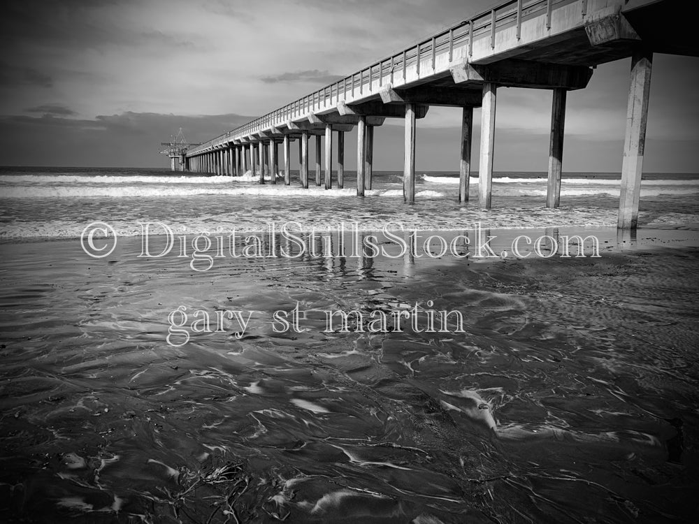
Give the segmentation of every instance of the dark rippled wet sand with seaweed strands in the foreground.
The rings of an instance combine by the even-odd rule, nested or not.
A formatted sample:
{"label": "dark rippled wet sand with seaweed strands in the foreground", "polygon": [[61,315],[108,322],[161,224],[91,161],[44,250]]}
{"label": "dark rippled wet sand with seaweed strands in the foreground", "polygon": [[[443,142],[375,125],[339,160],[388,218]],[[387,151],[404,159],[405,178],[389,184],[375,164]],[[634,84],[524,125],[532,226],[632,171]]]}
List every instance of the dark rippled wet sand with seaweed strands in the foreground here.
{"label": "dark rippled wet sand with seaweed strands in the foreground", "polygon": [[[103,260],[78,240],[2,244],[0,516],[690,521],[697,231],[491,231],[495,252],[566,233],[598,235],[600,257],[225,257],[198,273],[136,258],[138,238]],[[326,311],[428,300],[466,333],[326,330]],[[250,323],[173,347],[179,305]],[[296,305],[301,333],[275,332]]]}

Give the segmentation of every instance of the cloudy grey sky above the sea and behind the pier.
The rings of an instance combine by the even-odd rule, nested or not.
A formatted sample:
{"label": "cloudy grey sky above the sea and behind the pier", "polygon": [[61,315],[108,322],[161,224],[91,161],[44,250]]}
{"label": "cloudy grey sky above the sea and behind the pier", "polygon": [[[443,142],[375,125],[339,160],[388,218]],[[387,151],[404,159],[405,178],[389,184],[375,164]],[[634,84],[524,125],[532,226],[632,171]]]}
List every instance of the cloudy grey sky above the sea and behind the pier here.
{"label": "cloudy grey sky above the sea and behind the pier", "polygon": [[[492,5],[6,0],[0,165],[166,167],[160,143],[180,127],[190,142],[209,140]],[[568,93],[564,171],[621,170],[629,68],[630,59],[602,64]],[[697,85],[698,58],[654,56],[644,171],[699,172]],[[495,170],[547,169],[551,103],[547,90],[498,89]],[[440,107],[418,120],[417,170],[458,170],[460,122],[459,108]],[[477,169],[480,109],[474,124]],[[402,170],[400,119],[376,129],[374,159],[377,170]]]}

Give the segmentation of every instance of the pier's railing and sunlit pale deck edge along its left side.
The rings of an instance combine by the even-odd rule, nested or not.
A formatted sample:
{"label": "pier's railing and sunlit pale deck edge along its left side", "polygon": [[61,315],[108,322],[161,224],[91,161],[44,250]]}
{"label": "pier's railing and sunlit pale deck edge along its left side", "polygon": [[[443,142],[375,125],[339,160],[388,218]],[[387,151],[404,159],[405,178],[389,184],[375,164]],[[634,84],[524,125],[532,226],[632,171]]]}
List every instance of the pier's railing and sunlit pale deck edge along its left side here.
{"label": "pier's railing and sunlit pale deck edge along its left side", "polygon": [[[417,41],[410,47],[375,61],[345,78],[326,85],[311,94],[301,97],[282,108],[239,126],[227,133],[212,138],[199,147],[194,147],[188,156],[212,150],[216,146],[245,136],[273,129],[277,126],[308,117],[316,112],[336,108],[340,102],[353,102],[378,96],[386,85],[399,87],[415,80],[424,79],[448,71],[449,64],[456,58],[471,59],[475,43],[480,49],[495,50],[498,31],[515,28],[517,40],[521,24],[535,17],[545,17],[546,29],[551,29],[552,13],[557,8],[579,4],[580,16],[584,18],[588,0],[509,0],[500,3],[485,13],[463,20],[452,27]],[[581,21],[582,22],[582,21]],[[483,45],[485,39],[485,46]]]}

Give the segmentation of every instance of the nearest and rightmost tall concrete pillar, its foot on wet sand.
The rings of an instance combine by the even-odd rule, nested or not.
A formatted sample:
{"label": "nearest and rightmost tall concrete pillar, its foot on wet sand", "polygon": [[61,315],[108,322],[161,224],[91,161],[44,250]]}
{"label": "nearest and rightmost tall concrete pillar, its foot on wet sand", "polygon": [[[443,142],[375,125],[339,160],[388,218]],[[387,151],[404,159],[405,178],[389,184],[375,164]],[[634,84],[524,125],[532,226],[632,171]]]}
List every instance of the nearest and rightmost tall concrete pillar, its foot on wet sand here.
{"label": "nearest and rightmost tall concrete pillar, its foot on wet sand", "polygon": [[626,108],[624,159],[621,162],[621,194],[617,220],[619,229],[635,229],[638,222],[652,66],[652,52],[641,49],[633,52]]}

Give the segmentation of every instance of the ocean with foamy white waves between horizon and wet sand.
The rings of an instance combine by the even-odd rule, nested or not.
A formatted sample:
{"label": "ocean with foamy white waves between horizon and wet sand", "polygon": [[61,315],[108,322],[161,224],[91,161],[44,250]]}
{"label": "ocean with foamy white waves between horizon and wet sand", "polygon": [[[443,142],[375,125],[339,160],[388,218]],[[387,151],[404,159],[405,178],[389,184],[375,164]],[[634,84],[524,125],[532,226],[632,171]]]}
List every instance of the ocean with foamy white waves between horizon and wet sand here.
{"label": "ocean with foamy white waves between horizon and wet sand", "polygon": [[[136,221],[144,220],[189,231],[212,226],[263,231],[271,221],[288,220],[320,228],[338,218],[359,221],[365,231],[380,229],[391,219],[421,230],[454,230],[476,221],[492,228],[607,227],[617,221],[619,177],[564,174],[561,208],[549,210],[545,173],[496,173],[493,210],[482,211],[477,177],[470,179],[470,202],[461,204],[456,173],[417,173],[416,202],[406,207],[398,172],[375,172],[373,189],[358,201],[352,198],[354,172],[345,173],[345,189],[326,190],[315,187],[313,172],[310,188],[302,189],[297,171],[291,172],[292,184],[286,187],[260,186],[250,173],[232,180],[162,169],[0,168],[0,240],[78,237],[89,221],[105,217],[120,235],[137,234]],[[644,175],[639,223],[699,222],[698,195],[699,174]]]}

